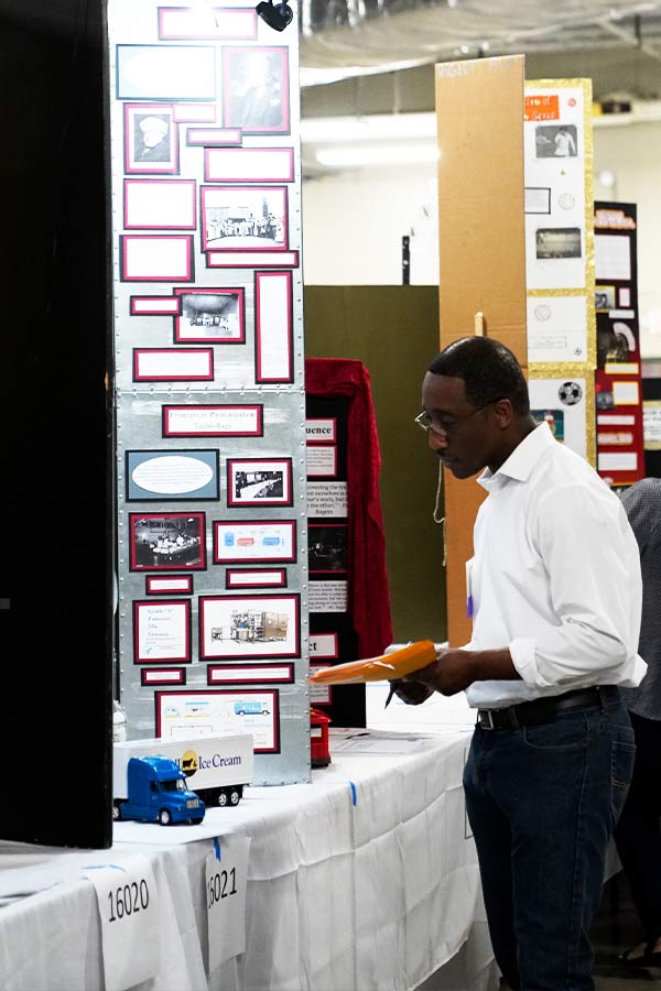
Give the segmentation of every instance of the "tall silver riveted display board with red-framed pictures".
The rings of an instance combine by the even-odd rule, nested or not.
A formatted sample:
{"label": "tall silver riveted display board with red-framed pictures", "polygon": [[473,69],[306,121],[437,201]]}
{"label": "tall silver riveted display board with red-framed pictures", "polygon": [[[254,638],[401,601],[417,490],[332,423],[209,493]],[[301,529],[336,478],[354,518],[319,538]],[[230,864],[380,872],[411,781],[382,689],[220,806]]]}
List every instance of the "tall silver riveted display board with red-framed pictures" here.
{"label": "tall silver riveted display board with red-framed pictures", "polygon": [[299,37],[108,3],[117,694],[310,780]]}

